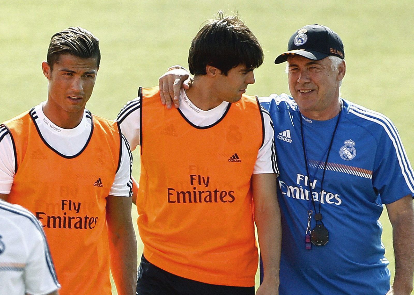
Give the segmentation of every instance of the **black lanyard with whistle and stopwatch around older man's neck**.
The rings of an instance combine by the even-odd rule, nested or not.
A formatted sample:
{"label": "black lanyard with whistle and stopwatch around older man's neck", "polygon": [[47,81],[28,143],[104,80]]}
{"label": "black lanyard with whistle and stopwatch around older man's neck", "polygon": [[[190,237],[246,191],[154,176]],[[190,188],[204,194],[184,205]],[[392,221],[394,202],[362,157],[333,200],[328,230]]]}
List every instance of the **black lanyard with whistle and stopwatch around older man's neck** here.
{"label": "black lanyard with whistle and stopwatch around older man's neck", "polygon": [[[323,192],[323,181],[325,179],[326,165],[328,163],[329,154],[331,152],[332,144],[334,142],[335,134],[336,134],[336,131],[337,131],[337,128],[338,128],[338,125],[339,125],[339,119],[341,118],[342,108],[343,108],[343,102],[341,100],[341,107],[339,109],[339,114],[338,114],[337,122],[335,124],[334,132],[332,133],[331,142],[329,144],[328,151],[327,151],[327,155],[326,155],[325,164],[323,166],[322,180],[321,180],[321,183],[320,183],[320,196],[322,196],[322,192]],[[311,231],[310,230],[310,220],[312,218],[312,213],[313,212],[309,208],[308,213],[307,213],[308,214],[308,227],[306,228],[305,245],[306,245],[306,249],[310,250],[310,247],[311,247],[311,245],[310,245],[311,239],[312,239],[312,243],[315,244],[315,245],[318,245],[318,246],[325,245],[328,242],[328,231],[325,228],[325,225],[323,224],[323,221],[322,221],[322,214],[320,213],[320,206],[321,206],[321,201],[320,200],[319,200],[318,213],[316,213],[315,200],[313,199],[313,191],[312,191],[312,183],[313,182],[311,181],[310,174],[309,174],[308,157],[306,155],[305,138],[304,138],[304,135],[303,135],[302,114],[301,114],[300,111],[299,111],[299,116],[300,116],[300,120],[301,120],[301,136],[302,136],[303,158],[305,160],[306,174],[307,174],[308,179],[309,179],[310,200],[312,201],[313,210],[314,210],[313,212],[315,212],[315,220],[316,220],[316,225],[315,225],[314,229]],[[318,225],[318,222],[320,222],[321,225]],[[312,233],[312,237],[310,236],[311,233]],[[323,237],[321,237],[321,235]]]}

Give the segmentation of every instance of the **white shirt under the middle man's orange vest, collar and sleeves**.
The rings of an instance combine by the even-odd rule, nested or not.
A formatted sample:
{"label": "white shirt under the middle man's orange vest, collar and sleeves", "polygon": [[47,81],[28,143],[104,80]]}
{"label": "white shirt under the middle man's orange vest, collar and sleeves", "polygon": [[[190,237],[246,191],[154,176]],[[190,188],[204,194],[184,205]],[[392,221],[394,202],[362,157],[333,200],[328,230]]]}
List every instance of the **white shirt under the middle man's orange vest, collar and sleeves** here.
{"label": "white shirt under the middle man's orange vest, collar and sleeves", "polygon": [[[185,90],[181,88],[180,92],[180,111],[183,116],[196,126],[209,126],[219,121],[225,113],[229,102],[222,102],[214,109],[203,111],[197,108],[190,99],[188,99]],[[135,150],[140,144],[140,107],[141,97],[137,97],[129,101],[119,112],[116,120],[120,123],[121,131],[128,139],[131,150]],[[160,101],[160,108],[164,107]],[[278,173],[276,166],[276,155],[274,147],[274,130],[272,119],[268,111],[262,108],[264,126],[265,126],[265,141],[260,147],[258,157],[253,169],[253,174],[260,173]],[[273,161],[272,161],[273,159]]]}

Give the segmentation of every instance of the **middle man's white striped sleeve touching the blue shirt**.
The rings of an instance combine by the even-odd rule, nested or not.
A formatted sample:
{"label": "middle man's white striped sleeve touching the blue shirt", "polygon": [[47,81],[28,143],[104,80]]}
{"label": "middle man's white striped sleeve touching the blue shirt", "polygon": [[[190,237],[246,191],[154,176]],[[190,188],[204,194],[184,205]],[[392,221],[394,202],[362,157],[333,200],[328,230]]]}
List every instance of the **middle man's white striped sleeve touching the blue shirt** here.
{"label": "middle man's white striped sleeve touching the blue shirt", "polygon": [[276,150],[274,146],[273,122],[268,111],[262,108],[265,140],[258,152],[253,174],[276,173],[279,174],[276,163]]}

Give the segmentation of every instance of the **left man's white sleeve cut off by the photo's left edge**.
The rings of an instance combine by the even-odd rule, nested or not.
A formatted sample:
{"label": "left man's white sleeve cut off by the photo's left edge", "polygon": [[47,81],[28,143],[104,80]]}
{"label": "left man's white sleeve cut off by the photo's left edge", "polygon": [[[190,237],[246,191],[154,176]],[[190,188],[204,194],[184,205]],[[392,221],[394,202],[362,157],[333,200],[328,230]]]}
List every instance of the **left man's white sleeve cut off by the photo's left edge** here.
{"label": "left man's white sleeve cut off by the photo's left edge", "polygon": [[14,179],[14,149],[9,131],[0,126],[0,193],[10,193]]}

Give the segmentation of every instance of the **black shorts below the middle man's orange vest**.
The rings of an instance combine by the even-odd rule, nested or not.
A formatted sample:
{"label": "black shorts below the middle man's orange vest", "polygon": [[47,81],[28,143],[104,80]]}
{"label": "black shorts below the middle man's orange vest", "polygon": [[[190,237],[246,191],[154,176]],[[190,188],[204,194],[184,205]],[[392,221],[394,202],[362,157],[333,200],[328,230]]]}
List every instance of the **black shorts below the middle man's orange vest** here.
{"label": "black shorts below the middle man's orange vest", "polygon": [[176,276],[155,266],[142,255],[137,295],[254,295],[255,287],[212,285]]}

